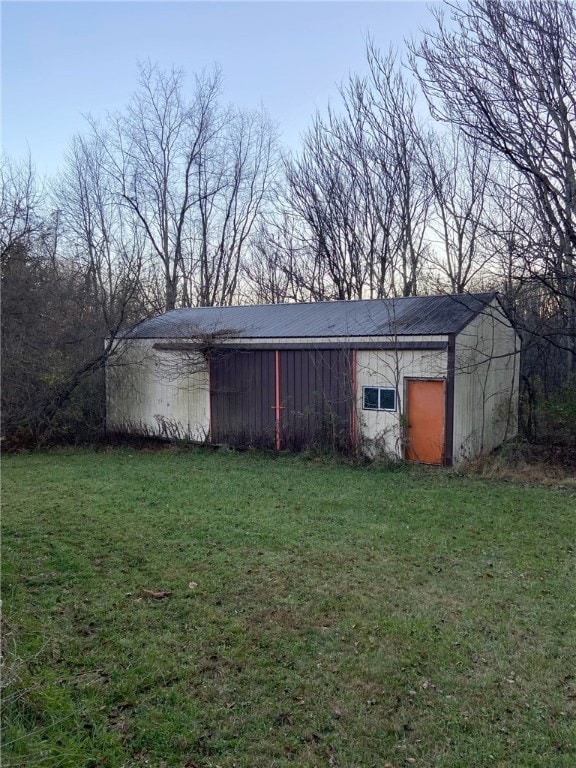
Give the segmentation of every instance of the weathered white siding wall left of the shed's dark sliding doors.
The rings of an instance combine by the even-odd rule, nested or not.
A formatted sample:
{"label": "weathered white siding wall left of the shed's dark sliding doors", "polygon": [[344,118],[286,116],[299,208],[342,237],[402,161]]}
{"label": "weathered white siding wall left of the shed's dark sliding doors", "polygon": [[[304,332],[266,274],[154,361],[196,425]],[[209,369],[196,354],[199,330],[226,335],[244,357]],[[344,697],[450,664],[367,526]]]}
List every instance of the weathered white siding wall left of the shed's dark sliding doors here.
{"label": "weathered white siding wall left of the shed's dark sliding doors", "polygon": [[210,427],[209,374],[197,353],[120,342],[107,371],[109,430],[205,440]]}

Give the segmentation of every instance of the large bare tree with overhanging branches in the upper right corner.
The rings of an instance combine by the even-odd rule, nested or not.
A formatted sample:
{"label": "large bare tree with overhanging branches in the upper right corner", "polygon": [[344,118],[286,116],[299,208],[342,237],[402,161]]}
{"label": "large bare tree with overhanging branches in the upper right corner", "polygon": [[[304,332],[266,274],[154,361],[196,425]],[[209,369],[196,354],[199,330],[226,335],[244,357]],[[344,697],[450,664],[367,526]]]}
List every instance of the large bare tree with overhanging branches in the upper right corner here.
{"label": "large bare tree with overhanging branches in the upper right corner", "polygon": [[576,371],[576,11],[568,0],[446,3],[451,24],[414,49],[433,114],[510,163],[541,222],[524,275],[562,305]]}

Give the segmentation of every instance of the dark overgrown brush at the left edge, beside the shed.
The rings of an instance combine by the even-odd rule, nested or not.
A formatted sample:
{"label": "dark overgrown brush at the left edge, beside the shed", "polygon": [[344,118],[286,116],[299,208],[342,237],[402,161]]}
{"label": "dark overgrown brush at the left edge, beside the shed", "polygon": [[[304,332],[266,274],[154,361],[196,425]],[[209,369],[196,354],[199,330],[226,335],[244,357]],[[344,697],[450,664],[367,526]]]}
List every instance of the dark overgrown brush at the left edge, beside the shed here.
{"label": "dark overgrown brush at the left edge, beside the shed", "polygon": [[105,335],[76,271],[12,249],[2,264],[4,450],[86,442],[102,432]]}

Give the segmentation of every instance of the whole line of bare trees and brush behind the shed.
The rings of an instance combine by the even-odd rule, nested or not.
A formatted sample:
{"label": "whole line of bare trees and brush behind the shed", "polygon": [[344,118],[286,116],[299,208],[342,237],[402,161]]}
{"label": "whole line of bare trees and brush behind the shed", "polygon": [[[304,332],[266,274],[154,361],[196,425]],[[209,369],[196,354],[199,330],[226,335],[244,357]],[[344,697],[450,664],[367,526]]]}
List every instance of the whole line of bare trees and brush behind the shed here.
{"label": "whole line of bare trees and brush behind the shed", "polygon": [[445,2],[403,57],[366,56],[293,153],[223,103],[218,69],[146,63],[57,178],[2,158],[5,438],[101,429],[114,339],[162,311],[486,289],[535,431],[576,376],[574,7]]}

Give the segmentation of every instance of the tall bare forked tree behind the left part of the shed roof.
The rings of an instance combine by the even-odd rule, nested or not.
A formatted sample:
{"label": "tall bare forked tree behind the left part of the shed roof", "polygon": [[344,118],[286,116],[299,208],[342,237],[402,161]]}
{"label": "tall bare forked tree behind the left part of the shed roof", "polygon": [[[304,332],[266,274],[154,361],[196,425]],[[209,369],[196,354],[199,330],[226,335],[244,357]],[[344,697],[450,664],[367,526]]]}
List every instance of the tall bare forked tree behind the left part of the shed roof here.
{"label": "tall bare forked tree behind the left part of the shed roof", "polygon": [[195,167],[222,128],[217,113],[220,83],[219,71],[197,77],[192,102],[187,103],[182,71],[166,73],[141,65],[139,90],[127,110],[111,116],[105,133],[92,124],[107,148],[120,199],[136,215],[162,265],[166,310],[178,301],[186,226],[190,210],[198,204]]}

